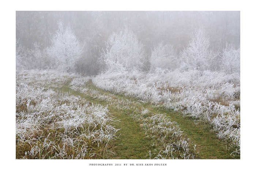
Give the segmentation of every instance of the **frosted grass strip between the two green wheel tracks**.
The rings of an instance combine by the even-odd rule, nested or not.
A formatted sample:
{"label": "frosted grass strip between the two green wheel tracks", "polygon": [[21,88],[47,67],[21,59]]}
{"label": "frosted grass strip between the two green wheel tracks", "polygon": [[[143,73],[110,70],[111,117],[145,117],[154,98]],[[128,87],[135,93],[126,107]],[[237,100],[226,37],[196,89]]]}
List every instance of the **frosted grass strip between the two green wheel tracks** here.
{"label": "frosted grass strip between the two green wheel tracks", "polygon": [[[134,75],[131,75],[130,78],[136,79],[137,77],[135,75],[137,74],[135,73]],[[70,85],[72,85],[72,89],[79,91],[82,94],[90,95],[93,98],[107,102],[110,107],[120,109],[121,111],[127,110],[129,116],[132,116],[135,121],[139,121],[146,136],[150,138],[150,140],[153,139],[161,148],[165,148],[160,151],[163,152],[163,150],[165,150],[161,154],[155,153],[155,151],[149,151],[148,158],[193,159],[194,154],[189,150],[189,139],[184,139],[182,137],[183,131],[178,127],[178,124],[176,122],[171,122],[171,120],[163,114],[153,113],[144,109],[140,103],[143,101],[138,100],[137,102],[133,102],[127,99],[117,98],[114,94],[102,95],[97,90],[81,87],[72,82]],[[139,110],[138,108],[142,109]],[[170,144],[170,142],[172,144]],[[184,142],[186,145],[183,145]],[[169,147],[169,149],[166,149],[166,147]]]}

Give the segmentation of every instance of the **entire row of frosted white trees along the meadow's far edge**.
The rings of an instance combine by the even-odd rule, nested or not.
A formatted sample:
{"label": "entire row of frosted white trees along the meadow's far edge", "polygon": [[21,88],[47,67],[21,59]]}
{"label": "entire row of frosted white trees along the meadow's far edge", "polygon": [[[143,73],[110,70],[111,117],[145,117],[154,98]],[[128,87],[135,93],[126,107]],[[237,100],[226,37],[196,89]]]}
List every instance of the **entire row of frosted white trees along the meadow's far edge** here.
{"label": "entire row of frosted white trees along the meadow's far edge", "polygon": [[[210,37],[203,28],[199,28],[191,36],[187,48],[179,54],[171,44],[163,42],[154,46],[150,59],[147,59],[145,46],[129,28],[113,33],[106,41],[101,58],[95,60],[90,55],[86,43],[75,36],[71,25],[63,26],[52,39],[52,45],[41,50],[41,45],[34,43],[33,50],[25,50],[19,41],[16,42],[16,69],[53,68],[64,72],[86,73],[91,66],[98,70],[221,70],[227,73],[240,72],[240,48],[226,47],[222,54],[210,48]],[[147,67],[147,62],[150,67]],[[221,63],[221,65],[219,64]]]}

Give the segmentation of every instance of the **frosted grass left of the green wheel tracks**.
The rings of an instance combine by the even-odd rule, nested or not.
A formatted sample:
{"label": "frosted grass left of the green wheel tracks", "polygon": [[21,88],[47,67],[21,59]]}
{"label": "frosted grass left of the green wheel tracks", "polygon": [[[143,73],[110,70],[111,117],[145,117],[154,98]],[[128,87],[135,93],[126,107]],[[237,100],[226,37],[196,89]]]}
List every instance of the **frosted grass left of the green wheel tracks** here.
{"label": "frosted grass left of the green wheel tracks", "polygon": [[32,75],[16,78],[16,158],[104,158],[117,132],[108,108],[39,88]]}

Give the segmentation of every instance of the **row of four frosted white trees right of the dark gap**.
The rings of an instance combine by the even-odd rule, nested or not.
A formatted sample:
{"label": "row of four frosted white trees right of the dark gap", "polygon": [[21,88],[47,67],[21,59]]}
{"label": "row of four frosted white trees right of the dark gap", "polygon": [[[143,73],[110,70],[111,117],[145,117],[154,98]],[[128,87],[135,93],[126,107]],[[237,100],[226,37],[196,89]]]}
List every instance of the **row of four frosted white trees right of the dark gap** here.
{"label": "row of four frosted white trees right of the dark gap", "polygon": [[[108,61],[108,67],[121,66],[126,70],[134,68],[143,70],[147,62],[143,45],[129,29],[119,34],[113,33],[107,45],[104,58]],[[156,68],[180,71],[219,70],[231,74],[240,72],[240,48],[227,45],[221,54],[214,52],[210,48],[209,36],[203,28],[199,28],[191,36],[187,48],[184,48],[180,54],[173,45],[163,45],[161,42],[152,50],[149,61],[150,70]]]}

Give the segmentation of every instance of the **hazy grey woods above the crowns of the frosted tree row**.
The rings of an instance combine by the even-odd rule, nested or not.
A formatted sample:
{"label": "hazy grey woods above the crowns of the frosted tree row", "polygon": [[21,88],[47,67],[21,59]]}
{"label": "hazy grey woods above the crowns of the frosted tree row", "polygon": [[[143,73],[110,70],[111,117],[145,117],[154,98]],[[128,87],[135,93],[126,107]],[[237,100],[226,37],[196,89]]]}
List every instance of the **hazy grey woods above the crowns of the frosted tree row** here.
{"label": "hazy grey woods above the crowns of the frosted tree row", "polygon": [[17,11],[16,39],[26,48],[33,48],[34,42],[49,47],[59,20],[72,25],[80,40],[99,49],[112,32],[125,27],[145,44],[148,55],[161,41],[183,50],[199,25],[204,26],[217,51],[225,48],[226,42],[240,45],[240,11]]}

